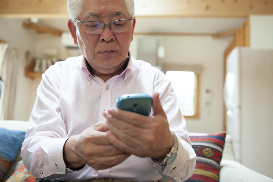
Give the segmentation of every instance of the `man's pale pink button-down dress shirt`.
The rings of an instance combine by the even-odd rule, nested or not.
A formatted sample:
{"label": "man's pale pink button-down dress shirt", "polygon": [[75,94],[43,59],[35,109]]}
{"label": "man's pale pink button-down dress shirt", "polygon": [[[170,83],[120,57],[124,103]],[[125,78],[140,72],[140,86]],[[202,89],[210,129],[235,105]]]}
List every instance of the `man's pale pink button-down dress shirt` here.
{"label": "man's pale pink button-down dress shirt", "polygon": [[[73,171],[66,168],[62,150],[66,140],[87,127],[105,121],[103,111],[116,106],[116,99],[128,93],[160,93],[170,130],[179,139],[177,158],[162,167],[150,158],[131,155],[117,166],[94,170],[88,165]],[[92,76],[83,56],[57,62],[42,75],[37,97],[22,143],[25,167],[35,177],[55,180],[88,180],[113,177],[130,181],[184,181],[195,168],[196,155],[187,134],[186,122],[165,74],[149,63],[130,57],[122,74],[104,82]]]}

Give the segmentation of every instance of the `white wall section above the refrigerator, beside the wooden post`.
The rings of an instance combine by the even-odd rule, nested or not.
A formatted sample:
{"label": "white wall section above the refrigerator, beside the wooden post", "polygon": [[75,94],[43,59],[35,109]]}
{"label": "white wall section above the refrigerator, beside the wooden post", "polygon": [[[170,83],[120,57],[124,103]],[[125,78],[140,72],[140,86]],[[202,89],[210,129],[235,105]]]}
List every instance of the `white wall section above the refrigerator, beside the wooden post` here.
{"label": "white wall section above the refrigerator, beside the wooden post", "polygon": [[273,15],[251,15],[250,47],[254,49],[273,48]]}

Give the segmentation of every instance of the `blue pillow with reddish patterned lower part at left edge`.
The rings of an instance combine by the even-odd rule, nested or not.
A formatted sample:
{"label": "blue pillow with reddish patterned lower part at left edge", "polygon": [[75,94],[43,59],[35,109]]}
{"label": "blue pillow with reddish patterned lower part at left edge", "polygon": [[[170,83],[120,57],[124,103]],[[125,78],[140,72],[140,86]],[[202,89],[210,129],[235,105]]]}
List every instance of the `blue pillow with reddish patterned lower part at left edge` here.
{"label": "blue pillow with reddish patterned lower part at left edge", "polygon": [[15,160],[25,139],[25,131],[0,128],[0,180]]}

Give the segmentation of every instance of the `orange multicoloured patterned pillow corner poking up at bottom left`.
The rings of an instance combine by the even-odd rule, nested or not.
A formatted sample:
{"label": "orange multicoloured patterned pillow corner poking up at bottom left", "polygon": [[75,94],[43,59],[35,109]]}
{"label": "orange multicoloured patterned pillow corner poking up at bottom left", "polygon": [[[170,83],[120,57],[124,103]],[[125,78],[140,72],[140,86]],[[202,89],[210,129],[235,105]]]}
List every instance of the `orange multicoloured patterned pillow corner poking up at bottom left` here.
{"label": "orange multicoloured patterned pillow corner poking up at bottom left", "polygon": [[32,176],[28,170],[22,164],[18,170],[16,170],[6,182],[35,182],[36,178]]}

